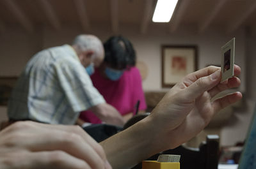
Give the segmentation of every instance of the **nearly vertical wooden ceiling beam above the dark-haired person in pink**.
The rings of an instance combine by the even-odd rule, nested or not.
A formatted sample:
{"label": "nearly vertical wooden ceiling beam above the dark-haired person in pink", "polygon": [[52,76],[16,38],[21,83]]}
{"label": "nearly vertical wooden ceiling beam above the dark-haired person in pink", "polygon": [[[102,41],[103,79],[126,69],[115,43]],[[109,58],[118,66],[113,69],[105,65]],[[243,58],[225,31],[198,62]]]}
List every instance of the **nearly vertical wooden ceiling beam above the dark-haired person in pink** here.
{"label": "nearly vertical wooden ceiling beam above the dark-haired person in pink", "polygon": [[118,0],[110,1],[111,27],[113,33],[118,33]]}

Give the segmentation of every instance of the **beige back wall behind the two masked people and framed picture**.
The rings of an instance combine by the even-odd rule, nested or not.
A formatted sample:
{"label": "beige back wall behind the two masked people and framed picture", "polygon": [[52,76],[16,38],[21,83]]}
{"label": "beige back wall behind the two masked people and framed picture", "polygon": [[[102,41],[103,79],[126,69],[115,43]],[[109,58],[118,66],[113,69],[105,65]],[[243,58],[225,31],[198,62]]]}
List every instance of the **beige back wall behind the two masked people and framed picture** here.
{"label": "beige back wall behind the two masked people and framed picture", "polygon": [[[121,29],[121,33],[134,44],[138,60],[145,62],[148,66],[148,77],[143,81],[143,89],[145,91],[166,90],[161,87],[161,45],[198,45],[198,68],[204,68],[209,64],[220,65],[220,47],[232,37],[236,37],[235,62],[239,64],[243,70],[241,74],[242,84],[239,90],[242,92],[250,92],[252,93],[251,99],[255,98],[255,90],[253,90],[252,86],[248,85],[248,82],[250,83],[251,80],[248,76],[253,77],[252,71],[255,68],[252,62],[247,61],[246,51],[250,50],[250,55],[247,54],[250,58],[253,58],[256,51],[252,43],[248,43],[248,35],[246,35],[244,30],[239,30],[230,35],[225,35],[220,31],[214,30],[204,34],[196,34],[195,32],[182,30],[180,30],[179,33],[168,34],[166,30],[161,27],[156,27],[154,31],[149,30],[149,33],[143,35],[134,33],[138,32],[136,29],[138,29],[138,27],[125,27],[125,29]],[[104,26],[98,26],[92,30],[93,31],[90,33],[96,34],[101,40],[106,40],[111,36],[111,32],[105,29]],[[60,31],[52,31],[52,29],[48,27],[40,27],[37,29],[36,33],[33,34],[28,34],[18,28],[6,30],[6,33],[0,34],[0,75],[19,75],[20,71],[22,71],[22,68],[33,54],[42,48],[70,43],[74,36],[80,33],[83,33],[83,31],[77,27],[62,27]],[[253,42],[255,42],[255,40]],[[251,64],[250,68],[246,66],[246,63]],[[246,81],[246,78],[250,80]],[[253,101],[251,101],[250,104],[253,105]],[[4,111],[5,110],[0,112],[0,114],[3,114]],[[251,110],[246,111],[250,112]],[[239,110],[239,112],[243,112],[243,110]],[[246,129],[248,128],[248,125],[244,122],[246,120],[244,119],[250,118],[251,114],[244,113],[239,115],[241,115],[241,117],[239,117],[241,120],[236,124],[237,128],[239,128],[237,131],[231,132],[232,129],[223,129],[221,134],[221,142],[223,145],[232,144],[244,139],[244,133],[246,133]],[[243,130],[243,132],[241,132],[241,130]],[[230,133],[237,136],[237,139],[232,138],[233,140],[231,140],[228,138]]]}

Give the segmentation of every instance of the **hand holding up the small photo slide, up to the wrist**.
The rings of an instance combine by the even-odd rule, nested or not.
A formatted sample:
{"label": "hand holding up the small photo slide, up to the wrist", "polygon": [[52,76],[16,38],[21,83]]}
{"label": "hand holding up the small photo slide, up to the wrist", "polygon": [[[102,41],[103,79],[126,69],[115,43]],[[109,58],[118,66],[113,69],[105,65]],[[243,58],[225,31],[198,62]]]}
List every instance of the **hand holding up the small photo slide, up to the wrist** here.
{"label": "hand holding up the small photo slide, up to the wrist", "polygon": [[[235,65],[235,76],[240,72]],[[235,92],[212,100],[221,91],[241,84],[237,77],[223,84],[220,80],[220,68],[209,66],[189,74],[167,92],[150,115],[159,134],[166,136],[160,139],[162,145],[168,144],[171,149],[187,142],[209,124],[216,112],[242,98],[240,92]]]}

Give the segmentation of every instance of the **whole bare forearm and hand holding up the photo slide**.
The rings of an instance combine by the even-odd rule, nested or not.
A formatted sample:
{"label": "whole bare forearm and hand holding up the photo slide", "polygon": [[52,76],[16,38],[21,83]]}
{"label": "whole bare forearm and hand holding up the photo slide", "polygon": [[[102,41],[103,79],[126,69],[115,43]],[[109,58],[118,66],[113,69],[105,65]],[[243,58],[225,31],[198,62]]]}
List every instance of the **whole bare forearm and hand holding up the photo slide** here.
{"label": "whole bare forearm and hand holding up the photo slide", "polygon": [[[235,76],[241,72],[234,67]],[[209,66],[187,75],[166,93],[152,113],[102,145],[113,168],[130,168],[166,149],[193,138],[216,112],[242,98],[240,92],[212,100],[216,94],[238,87],[237,77],[220,84],[220,68]]]}

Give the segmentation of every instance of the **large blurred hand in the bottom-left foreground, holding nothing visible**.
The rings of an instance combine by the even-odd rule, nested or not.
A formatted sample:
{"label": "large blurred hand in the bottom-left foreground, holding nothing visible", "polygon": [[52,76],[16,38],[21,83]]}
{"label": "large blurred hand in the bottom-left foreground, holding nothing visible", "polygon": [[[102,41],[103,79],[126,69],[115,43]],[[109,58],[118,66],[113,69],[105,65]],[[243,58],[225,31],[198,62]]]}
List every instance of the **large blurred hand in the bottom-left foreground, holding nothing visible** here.
{"label": "large blurred hand in the bottom-left foreground, holding nothing visible", "polygon": [[102,147],[78,126],[15,122],[0,132],[0,168],[108,168]]}

